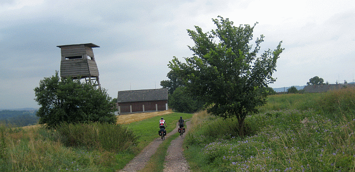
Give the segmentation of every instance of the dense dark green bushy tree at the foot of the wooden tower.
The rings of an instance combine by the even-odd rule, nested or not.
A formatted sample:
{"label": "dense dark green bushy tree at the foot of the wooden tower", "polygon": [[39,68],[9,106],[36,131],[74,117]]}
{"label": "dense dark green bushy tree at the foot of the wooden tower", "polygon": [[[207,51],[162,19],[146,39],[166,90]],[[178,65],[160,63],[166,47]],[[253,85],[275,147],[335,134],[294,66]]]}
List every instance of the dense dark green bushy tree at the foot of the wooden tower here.
{"label": "dense dark green bushy tree at the foot of the wooden tower", "polygon": [[61,80],[53,75],[44,78],[35,89],[36,101],[41,107],[36,115],[39,123],[54,127],[61,122],[116,123],[116,104],[104,88],[96,88],[71,78]]}

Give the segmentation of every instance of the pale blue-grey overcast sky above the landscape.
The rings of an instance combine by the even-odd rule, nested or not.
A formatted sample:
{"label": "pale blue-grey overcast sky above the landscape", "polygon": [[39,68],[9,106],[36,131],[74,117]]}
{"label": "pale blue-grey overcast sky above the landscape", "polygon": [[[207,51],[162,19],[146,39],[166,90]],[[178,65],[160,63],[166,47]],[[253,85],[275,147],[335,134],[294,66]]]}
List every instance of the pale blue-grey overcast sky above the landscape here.
{"label": "pale blue-grey overcast sky above the landscape", "polygon": [[319,76],[355,78],[353,0],[0,0],[0,109],[39,108],[34,88],[60,70],[58,45],[94,43],[101,86],[161,88],[167,64],[191,57],[186,29],[215,29],[220,15],[253,25],[263,50],[285,48],[271,87],[304,86]]}

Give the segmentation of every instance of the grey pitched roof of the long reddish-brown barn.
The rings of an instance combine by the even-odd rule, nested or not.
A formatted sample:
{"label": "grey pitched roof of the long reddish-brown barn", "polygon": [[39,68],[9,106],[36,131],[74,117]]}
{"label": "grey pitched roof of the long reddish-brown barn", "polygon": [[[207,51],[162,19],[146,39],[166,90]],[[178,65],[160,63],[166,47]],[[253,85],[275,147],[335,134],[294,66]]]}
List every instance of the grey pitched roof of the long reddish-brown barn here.
{"label": "grey pitched roof of the long reddish-brown barn", "polygon": [[117,102],[168,100],[168,88],[118,91]]}

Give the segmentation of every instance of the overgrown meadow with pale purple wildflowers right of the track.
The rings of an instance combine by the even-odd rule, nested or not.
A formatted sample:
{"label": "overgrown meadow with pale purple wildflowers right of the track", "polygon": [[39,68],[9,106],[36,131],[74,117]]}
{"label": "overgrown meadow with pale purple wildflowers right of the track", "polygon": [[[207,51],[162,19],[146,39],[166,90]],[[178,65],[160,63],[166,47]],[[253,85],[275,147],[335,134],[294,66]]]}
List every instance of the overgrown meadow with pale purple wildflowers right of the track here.
{"label": "overgrown meadow with pale purple wildflowers right of the track", "polygon": [[246,118],[200,112],[184,153],[194,172],[354,172],[355,90],[268,97]]}

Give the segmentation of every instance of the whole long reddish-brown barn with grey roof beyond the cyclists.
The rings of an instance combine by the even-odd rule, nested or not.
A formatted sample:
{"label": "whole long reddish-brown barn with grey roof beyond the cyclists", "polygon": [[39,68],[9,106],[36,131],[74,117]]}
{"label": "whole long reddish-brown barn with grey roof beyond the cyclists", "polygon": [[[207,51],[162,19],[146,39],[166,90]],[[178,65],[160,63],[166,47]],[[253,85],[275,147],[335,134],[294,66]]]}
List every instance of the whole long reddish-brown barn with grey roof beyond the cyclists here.
{"label": "whole long reddish-brown barn with grey roof beyond the cyclists", "polygon": [[137,113],[168,110],[168,89],[118,91],[118,113]]}

